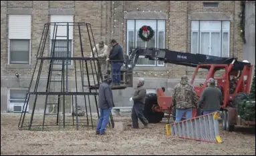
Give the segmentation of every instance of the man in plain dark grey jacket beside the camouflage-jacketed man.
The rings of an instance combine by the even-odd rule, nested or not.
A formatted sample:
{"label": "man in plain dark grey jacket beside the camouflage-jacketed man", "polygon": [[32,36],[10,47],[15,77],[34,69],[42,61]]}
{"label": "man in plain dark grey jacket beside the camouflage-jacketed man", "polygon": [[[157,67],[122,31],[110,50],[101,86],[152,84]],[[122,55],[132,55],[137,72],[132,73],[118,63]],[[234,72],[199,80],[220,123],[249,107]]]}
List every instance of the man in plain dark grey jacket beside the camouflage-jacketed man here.
{"label": "man in plain dark grey jacket beside the camouflage-jacketed man", "polygon": [[203,109],[203,115],[219,111],[222,101],[221,90],[215,87],[215,79],[210,78],[199,99],[199,106]]}

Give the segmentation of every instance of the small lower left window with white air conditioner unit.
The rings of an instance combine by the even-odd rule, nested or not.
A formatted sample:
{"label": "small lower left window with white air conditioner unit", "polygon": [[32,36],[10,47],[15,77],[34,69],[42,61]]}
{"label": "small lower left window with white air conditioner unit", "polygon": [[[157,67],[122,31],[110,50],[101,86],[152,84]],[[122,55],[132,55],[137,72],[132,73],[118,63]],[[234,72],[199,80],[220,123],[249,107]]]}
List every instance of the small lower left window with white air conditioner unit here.
{"label": "small lower left window with white air conditioner unit", "polygon": [[[25,103],[25,96],[27,89],[9,89],[8,96],[8,111],[9,112],[22,112],[23,105]],[[27,106],[27,112],[29,111],[29,105]]]}

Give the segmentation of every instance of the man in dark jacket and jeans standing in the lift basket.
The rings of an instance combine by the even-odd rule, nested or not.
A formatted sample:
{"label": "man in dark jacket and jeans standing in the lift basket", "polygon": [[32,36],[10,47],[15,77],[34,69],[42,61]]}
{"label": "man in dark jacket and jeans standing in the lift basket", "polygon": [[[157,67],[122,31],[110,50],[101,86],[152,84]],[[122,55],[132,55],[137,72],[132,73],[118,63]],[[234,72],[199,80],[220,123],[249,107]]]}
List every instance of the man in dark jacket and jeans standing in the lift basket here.
{"label": "man in dark jacket and jeans standing in the lift basket", "polygon": [[112,63],[112,78],[113,78],[113,85],[120,85],[121,81],[121,67],[124,63],[124,51],[115,39],[110,41],[110,45],[112,47],[110,51],[110,56],[108,57],[107,61],[110,60]]}

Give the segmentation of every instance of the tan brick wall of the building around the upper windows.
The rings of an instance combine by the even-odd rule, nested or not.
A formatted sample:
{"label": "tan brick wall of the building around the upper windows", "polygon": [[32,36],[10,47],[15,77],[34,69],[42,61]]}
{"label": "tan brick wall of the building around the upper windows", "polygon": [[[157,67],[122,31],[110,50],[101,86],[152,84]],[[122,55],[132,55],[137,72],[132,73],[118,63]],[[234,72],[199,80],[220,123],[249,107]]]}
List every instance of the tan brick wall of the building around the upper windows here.
{"label": "tan brick wall of the building around the upper windows", "polygon": [[[32,41],[31,67],[17,69],[8,67],[8,15],[9,8],[31,8]],[[203,1],[1,1],[1,76],[13,77],[19,72],[21,76],[30,76],[35,65],[35,55],[41,38],[43,24],[49,22],[49,9],[74,9],[74,21],[87,22],[92,25],[96,42],[103,39],[108,44],[115,38],[126,49],[125,13],[132,11],[156,11],[166,13],[166,47],[174,51],[190,52],[190,14],[192,13],[224,13],[231,17],[230,55],[243,59],[243,41],[239,36],[239,1],[219,1],[218,8],[203,8]],[[170,13],[169,13],[170,12]],[[90,53],[90,43],[86,28],[82,28],[84,55]],[[124,50],[126,51],[126,50]],[[80,56],[78,29],[74,29],[74,56]],[[46,71],[46,67],[44,71]],[[152,68],[137,67],[143,71],[159,75],[159,77],[176,78],[180,75],[191,75],[194,69],[180,65]],[[167,73],[168,71],[168,73]],[[187,72],[186,72],[187,71]],[[142,72],[140,72],[142,73]],[[43,73],[42,73],[43,74]],[[45,73],[44,73],[45,74]],[[72,73],[70,73],[72,75]],[[150,77],[150,75],[145,75]],[[157,76],[158,77],[158,76]]]}

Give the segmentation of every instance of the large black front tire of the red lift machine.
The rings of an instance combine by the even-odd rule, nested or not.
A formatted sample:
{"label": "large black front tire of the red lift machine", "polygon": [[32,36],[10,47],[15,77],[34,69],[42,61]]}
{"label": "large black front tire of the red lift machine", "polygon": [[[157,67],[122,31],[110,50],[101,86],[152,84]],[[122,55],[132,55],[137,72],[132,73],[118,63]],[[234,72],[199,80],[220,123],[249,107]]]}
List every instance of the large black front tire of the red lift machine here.
{"label": "large black front tire of the red lift machine", "polygon": [[155,93],[146,94],[146,101],[144,104],[144,117],[148,120],[148,123],[159,123],[164,117],[163,112],[154,112],[152,110],[153,105],[157,105],[157,96]]}

